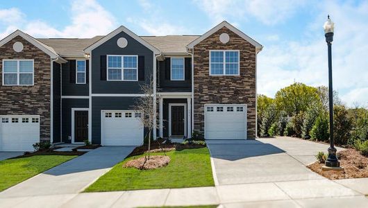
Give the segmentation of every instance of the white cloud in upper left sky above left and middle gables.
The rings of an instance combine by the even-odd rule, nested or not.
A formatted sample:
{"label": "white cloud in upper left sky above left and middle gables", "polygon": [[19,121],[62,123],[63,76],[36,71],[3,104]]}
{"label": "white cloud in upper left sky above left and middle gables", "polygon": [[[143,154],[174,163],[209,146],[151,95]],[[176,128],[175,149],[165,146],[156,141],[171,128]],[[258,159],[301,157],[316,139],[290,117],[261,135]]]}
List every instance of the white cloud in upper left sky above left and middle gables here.
{"label": "white cloud in upper left sky above left and middle gables", "polygon": [[26,19],[17,8],[0,10],[0,23],[6,27],[0,38],[18,28],[35,37],[93,37],[106,35],[117,28],[115,17],[97,1],[72,1],[71,12],[71,24],[60,30],[40,19]]}

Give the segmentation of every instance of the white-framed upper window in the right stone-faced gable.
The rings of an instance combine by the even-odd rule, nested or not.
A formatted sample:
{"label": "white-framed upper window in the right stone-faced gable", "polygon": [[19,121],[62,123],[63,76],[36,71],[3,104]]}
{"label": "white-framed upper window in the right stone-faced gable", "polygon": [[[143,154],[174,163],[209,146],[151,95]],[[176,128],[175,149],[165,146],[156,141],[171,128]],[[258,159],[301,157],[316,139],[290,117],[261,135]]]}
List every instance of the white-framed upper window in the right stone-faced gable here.
{"label": "white-framed upper window in the right stone-faced gable", "polygon": [[239,75],[239,51],[210,51],[210,75]]}

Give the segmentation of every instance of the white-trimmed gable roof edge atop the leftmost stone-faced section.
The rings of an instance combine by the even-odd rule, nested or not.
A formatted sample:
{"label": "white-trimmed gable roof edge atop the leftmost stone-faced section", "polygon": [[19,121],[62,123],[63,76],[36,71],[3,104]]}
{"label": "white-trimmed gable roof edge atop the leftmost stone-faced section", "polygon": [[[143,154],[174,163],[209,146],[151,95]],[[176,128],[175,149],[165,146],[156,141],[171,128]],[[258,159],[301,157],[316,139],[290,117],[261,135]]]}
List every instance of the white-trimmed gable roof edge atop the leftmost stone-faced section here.
{"label": "white-trimmed gable roof edge atop the leftmost stone-faced section", "polygon": [[44,53],[46,53],[47,55],[50,55],[51,58],[56,59],[58,58],[61,62],[66,62],[64,59],[62,59],[58,53],[56,53],[55,50],[53,50],[53,48],[51,48],[50,46],[48,46],[47,44],[44,44],[38,40],[36,40],[34,37],[32,37],[31,35],[28,35],[27,33],[24,33],[22,31],[14,31],[13,33],[11,33],[10,35],[6,36],[5,38],[3,38],[3,40],[0,41],[0,46],[3,46],[4,44],[8,43],[10,40],[12,40],[13,38],[17,37],[17,36],[23,37],[24,40],[30,42],[31,44],[33,44],[34,46],[36,46],[38,49],[40,49],[41,51],[44,51]]}

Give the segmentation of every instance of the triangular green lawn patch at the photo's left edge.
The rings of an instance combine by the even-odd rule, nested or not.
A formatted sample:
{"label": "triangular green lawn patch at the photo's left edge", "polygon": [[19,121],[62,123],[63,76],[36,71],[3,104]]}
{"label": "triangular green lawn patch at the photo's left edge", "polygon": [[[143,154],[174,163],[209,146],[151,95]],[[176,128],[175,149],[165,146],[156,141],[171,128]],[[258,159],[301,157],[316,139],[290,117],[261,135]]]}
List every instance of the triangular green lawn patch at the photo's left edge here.
{"label": "triangular green lawn patch at the photo's left edge", "polygon": [[18,184],[76,156],[37,155],[0,161],[0,191]]}

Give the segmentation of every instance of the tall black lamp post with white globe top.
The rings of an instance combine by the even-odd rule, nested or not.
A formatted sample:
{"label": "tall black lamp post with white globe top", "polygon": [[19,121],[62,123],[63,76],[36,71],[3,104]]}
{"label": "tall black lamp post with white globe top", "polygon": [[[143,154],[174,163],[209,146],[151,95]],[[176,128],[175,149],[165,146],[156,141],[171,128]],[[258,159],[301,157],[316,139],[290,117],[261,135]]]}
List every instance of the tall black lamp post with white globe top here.
{"label": "tall black lamp post with white globe top", "polygon": [[328,47],[328,103],[330,108],[330,147],[328,148],[328,157],[325,165],[327,167],[340,167],[340,162],[336,157],[335,141],[333,139],[333,88],[332,88],[332,55],[331,45],[333,42],[333,30],[335,24],[327,16],[327,21],[324,23],[324,36],[326,37]]}

